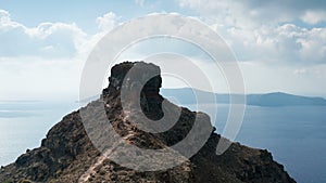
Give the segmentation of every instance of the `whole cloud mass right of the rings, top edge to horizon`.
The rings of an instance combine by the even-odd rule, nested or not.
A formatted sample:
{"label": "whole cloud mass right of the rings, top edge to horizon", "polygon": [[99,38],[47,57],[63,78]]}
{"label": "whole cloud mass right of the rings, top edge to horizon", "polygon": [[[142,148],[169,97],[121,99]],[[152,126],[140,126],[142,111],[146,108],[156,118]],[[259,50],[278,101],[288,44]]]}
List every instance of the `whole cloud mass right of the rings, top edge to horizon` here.
{"label": "whole cloud mass right of the rings, top edge to horizon", "polygon": [[179,5],[196,11],[247,61],[240,66],[248,92],[325,95],[326,1],[179,0]]}

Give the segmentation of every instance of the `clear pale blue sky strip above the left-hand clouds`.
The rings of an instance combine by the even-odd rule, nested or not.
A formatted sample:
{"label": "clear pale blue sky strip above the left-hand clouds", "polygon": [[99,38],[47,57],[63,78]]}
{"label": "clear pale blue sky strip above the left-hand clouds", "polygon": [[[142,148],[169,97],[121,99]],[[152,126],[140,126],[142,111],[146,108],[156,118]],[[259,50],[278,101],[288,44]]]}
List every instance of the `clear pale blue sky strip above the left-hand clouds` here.
{"label": "clear pale blue sky strip above the left-hand clouds", "polygon": [[[108,12],[114,12],[121,22],[140,17],[152,12],[179,12],[190,14],[188,10],[176,5],[176,1],[108,1],[108,0],[72,0],[72,1],[5,1],[1,9],[11,13],[13,19],[26,26],[37,26],[43,22],[76,23],[83,30],[96,32],[95,19]],[[191,12],[193,13],[193,12]]]}

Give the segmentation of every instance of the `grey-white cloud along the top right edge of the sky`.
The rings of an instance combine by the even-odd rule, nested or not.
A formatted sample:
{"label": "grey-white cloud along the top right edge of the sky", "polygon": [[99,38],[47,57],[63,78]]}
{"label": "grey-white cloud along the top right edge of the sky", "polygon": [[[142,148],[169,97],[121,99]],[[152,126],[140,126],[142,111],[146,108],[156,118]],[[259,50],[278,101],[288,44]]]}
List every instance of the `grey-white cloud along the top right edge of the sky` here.
{"label": "grey-white cloud along the top right edge of the sky", "polygon": [[324,0],[248,0],[228,1],[218,3],[210,0],[179,0],[180,6],[191,8],[201,14],[226,18],[225,22],[237,25],[241,23],[279,23],[299,19],[303,14],[315,11],[325,11]]}

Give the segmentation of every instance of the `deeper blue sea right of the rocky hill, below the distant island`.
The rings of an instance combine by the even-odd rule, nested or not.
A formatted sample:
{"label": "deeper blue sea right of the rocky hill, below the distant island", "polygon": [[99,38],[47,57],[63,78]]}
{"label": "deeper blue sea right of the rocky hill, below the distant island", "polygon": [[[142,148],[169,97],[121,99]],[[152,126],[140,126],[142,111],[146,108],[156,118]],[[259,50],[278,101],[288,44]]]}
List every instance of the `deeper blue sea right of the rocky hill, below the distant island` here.
{"label": "deeper blue sea right of the rocky hill, below the distant island", "polygon": [[[214,107],[205,108],[208,114],[214,114]],[[223,132],[228,113],[227,105],[218,105],[218,133]],[[299,183],[326,182],[326,106],[247,106],[236,141],[272,152]]]}

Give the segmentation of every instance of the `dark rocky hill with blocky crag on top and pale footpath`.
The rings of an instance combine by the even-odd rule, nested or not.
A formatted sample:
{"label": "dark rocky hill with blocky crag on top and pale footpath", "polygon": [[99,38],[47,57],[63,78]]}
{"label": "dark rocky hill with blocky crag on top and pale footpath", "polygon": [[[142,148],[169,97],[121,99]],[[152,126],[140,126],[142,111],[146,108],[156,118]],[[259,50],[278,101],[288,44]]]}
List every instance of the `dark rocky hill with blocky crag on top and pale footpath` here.
{"label": "dark rocky hill with blocky crag on top and pale footpath", "polygon": [[[139,66],[138,71],[129,75],[129,70],[135,66]],[[103,90],[101,99],[65,116],[48,132],[39,148],[26,152],[15,162],[1,168],[0,182],[294,182],[284,167],[273,160],[267,151],[233,143],[227,152],[217,156],[215,148],[221,135],[214,133],[215,129],[203,113],[190,112],[168,103],[167,109],[171,113],[180,110],[181,114],[173,128],[161,133],[149,133],[138,129],[126,114],[134,113],[129,110],[139,102],[137,99],[140,99],[141,110],[148,118],[159,120],[164,116],[164,99],[159,93],[162,82],[160,73],[158,66],[142,62],[115,65],[111,69],[110,84]],[[146,79],[148,77],[151,79]],[[140,89],[141,82],[146,83]],[[136,96],[130,92],[127,96],[129,108],[123,108],[122,88],[134,91],[137,87],[140,92],[135,92]],[[98,106],[104,106],[105,117],[97,110]],[[91,110],[96,117],[89,120],[89,125],[82,122],[83,109]],[[127,143],[140,148],[164,148],[181,141],[191,130],[198,116],[202,119],[202,126],[212,129],[209,140],[195,156],[167,170],[143,172],[122,167],[101,154],[88,135],[96,134],[99,145],[105,146],[105,140],[102,140],[108,135],[105,130],[95,126],[97,120],[105,118],[124,139],[122,145]],[[114,154],[113,146],[106,145],[103,149],[109,152],[108,154]],[[118,156],[131,156],[131,153],[124,152]],[[164,159],[153,158],[148,160],[148,165],[150,164],[161,165],[164,164]]]}

